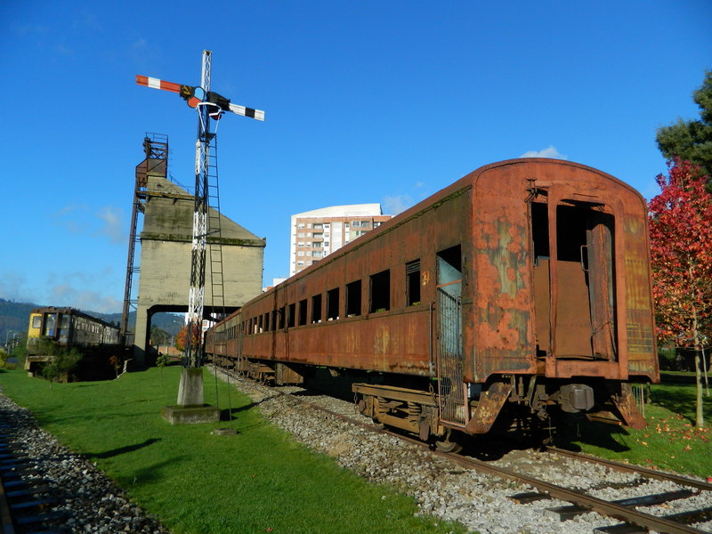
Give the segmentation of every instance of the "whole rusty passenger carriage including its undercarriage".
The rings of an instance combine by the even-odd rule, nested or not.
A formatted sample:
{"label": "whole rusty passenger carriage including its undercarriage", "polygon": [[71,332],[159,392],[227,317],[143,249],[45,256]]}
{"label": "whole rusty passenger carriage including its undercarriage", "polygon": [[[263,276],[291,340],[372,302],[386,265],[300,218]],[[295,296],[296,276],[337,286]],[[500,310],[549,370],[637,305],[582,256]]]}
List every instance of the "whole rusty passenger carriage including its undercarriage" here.
{"label": "whole rusty passenger carriage including its undercarriage", "polygon": [[643,198],[552,159],[484,166],[259,295],[206,353],[300,383],[364,371],[360,410],[438,436],[532,429],[556,410],[644,425],[659,380]]}

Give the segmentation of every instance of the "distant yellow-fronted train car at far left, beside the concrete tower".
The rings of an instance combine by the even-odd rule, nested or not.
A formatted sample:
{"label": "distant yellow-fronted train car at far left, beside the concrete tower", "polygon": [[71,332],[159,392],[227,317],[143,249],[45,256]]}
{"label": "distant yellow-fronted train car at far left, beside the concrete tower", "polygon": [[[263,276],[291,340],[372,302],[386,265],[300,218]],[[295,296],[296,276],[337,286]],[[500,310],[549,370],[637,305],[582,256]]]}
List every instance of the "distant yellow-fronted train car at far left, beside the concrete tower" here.
{"label": "distant yellow-fronted train car at far left, beside the concrete tower", "polygon": [[119,328],[74,308],[47,306],[29,313],[28,357],[25,369],[34,375],[37,368],[51,357],[44,350],[52,342],[64,349],[80,352],[112,348],[119,344]]}

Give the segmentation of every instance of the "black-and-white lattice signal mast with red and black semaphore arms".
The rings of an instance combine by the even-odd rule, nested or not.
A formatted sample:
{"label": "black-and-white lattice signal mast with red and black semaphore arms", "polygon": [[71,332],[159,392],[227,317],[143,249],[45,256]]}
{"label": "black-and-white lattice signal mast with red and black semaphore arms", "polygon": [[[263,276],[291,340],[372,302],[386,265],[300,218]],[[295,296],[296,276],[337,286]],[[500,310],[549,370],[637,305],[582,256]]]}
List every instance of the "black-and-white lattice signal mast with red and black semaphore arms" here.
{"label": "black-and-white lattice signal mast with red and black semaphore arms", "polygon": [[[195,209],[193,212],[193,235],[190,261],[190,292],[188,301],[188,338],[184,365],[199,368],[203,360],[202,326],[206,288],[206,247],[207,237],[213,229],[209,220],[209,177],[211,152],[216,152],[216,135],[211,132],[211,118],[220,119],[224,111],[231,111],[243,117],[264,120],[264,111],[232,104],[220,94],[210,91],[212,53],[203,52],[202,76],[199,87],[174,84],[154,77],[137,76],[136,83],[172,93],[179,93],[191,108],[198,109],[198,140],[195,161]],[[217,176],[217,164],[214,167]],[[216,187],[216,186],[215,186]],[[215,193],[217,196],[217,193]],[[218,214],[219,217],[219,214]],[[219,231],[218,229],[214,229]],[[221,252],[222,270],[222,252]],[[220,279],[223,273],[220,272]],[[221,290],[222,295],[222,290]]]}

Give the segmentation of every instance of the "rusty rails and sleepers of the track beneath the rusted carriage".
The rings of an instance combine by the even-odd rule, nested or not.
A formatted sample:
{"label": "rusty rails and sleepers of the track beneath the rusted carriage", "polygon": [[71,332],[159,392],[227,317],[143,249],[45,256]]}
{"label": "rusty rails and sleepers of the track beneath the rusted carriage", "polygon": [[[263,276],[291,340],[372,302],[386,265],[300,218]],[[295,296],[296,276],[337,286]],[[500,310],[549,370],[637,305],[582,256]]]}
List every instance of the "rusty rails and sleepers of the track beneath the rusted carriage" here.
{"label": "rusty rails and sleepers of the track beneath the rusted carriage", "polygon": [[[223,369],[221,369],[221,371],[223,373],[227,373],[227,371]],[[291,395],[288,392],[281,393],[279,390],[272,391],[290,395],[295,401],[298,401],[305,406],[309,406],[312,409],[318,409],[333,417],[338,417],[339,419],[348,421],[353,425],[359,425],[362,428],[368,429],[369,432],[390,434],[392,436],[397,436],[400,440],[408,441],[409,443],[417,445],[417,447],[428,448],[428,445],[422,441],[410,438],[409,436],[404,436],[401,433],[393,433],[392,431],[380,428],[377,425],[364,422],[363,420],[358,420],[356,417],[347,416],[343,412],[339,413],[332,409],[325,408],[315,402],[305,401],[303,397]],[[604,460],[602,458],[589,457],[587,455],[563,449],[548,448],[546,450],[551,454],[557,455],[557,457],[561,458],[562,461],[575,460],[578,462],[602,465],[607,469],[617,472],[637,473],[639,477],[642,477],[643,481],[648,479],[664,481],[667,484],[674,484],[676,489],[661,491],[654,495],[637,496],[635,498],[598,498],[587,494],[586,491],[571,489],[562,484],[552,483],[544,480],[542,477],[526,473],[525,468],[523,467],[514,469],[506,468],[497,465],[496,462],[482,461],[474,457],[445,453],[438,450],[432,450],[431,453],[437,457],[447,458],[450,461],[457,463],[457,465],[461,465],[467,469],[473,469],[480,473],[487,473],[500,479],[514,481],[517,484],[524,484],[530,486],[531,489],[536,490],[524,493],[513,492],[510,497],[514,502],[522,504],[541,502],[543,508],[546,507],[543,503],[546,503],[547,499],[552,498],[570,503],[569,506],[556,506],[546,508],[546,511],[542,511],[542,513],[558,515],[561,521],[573,518],[578,514],[596,512],[604,516],[615,518],[621,522],[619,525],[606,525],[599,529],[595,529],[595,532],[599,532],[601,534],[628,534],[635,532],[649,532],[651,530],[656,532],[667,532],[670,534],[701,534],[703,532],[712,531],[712,506],[705,506],[692,512],[669,514],[667,516],[659,516],[650,513],[650,511],[641,511],[637,509],[644,506],[667,506],[667,503],[672,500],[679,502],[681,499],[695,498],[700,495],[700,493],[712,496],[712,484],[709,484],[708,482],[698,481],[672,473],[662,473],[637,465],[626,465],[620,464],[619,462]],[[643,484],[643,481],[638,481],[632,485],[641,485]],[[627,484],[627,486],[630,485],[631,484]],[[712,502],[712,497],[710,497],[708,501]],[[705,528],[709,526],[709,529],[700,530],[694,528],[690,526],[692,523],[706,523]]]}

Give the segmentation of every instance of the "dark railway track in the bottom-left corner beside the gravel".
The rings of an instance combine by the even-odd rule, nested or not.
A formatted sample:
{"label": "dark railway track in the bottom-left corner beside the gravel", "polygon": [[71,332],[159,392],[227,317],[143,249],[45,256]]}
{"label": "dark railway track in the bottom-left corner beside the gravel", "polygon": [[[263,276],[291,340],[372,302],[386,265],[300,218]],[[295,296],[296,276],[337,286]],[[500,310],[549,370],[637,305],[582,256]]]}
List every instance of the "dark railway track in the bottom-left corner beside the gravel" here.
{"label": "dark railway track in the bottom-left corner beside the gravel", "polygon": [[0,414],[0,515],[3,534],[60,534],[62,512],[49,510],[57,499],[13,446],[13,429]]}

